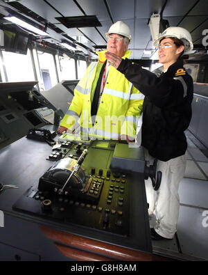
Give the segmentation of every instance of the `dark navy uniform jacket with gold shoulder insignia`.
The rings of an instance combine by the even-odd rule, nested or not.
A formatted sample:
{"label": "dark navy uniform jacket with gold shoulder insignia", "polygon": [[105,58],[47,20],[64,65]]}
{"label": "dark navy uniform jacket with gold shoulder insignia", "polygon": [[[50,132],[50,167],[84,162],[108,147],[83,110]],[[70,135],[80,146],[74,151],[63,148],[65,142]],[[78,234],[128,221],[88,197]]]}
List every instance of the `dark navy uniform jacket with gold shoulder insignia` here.
{"label": "dark navy uniform jacket with gold shoulder insignia", "polygon": [[191,121],[193,79],[184,69],[182,58],[159,77],[128,59],[122,60],[117,70],[145,95],[141,145],[164,162],[184,155],[187,150],[184,131]]}

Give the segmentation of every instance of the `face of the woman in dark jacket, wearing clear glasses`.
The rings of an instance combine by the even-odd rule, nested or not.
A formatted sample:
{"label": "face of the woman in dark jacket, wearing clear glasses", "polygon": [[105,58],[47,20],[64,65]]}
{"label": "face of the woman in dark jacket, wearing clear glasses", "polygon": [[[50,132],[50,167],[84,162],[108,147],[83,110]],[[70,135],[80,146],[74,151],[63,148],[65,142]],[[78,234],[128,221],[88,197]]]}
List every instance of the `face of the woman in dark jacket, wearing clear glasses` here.
{"label": "face of the woman in dark jacket, wearing clear glasses", "polygon": [[171,38],[164,38],[159,44],[159,63],[166,66],[175,63],[183,50],[184,46],[176,47]]}

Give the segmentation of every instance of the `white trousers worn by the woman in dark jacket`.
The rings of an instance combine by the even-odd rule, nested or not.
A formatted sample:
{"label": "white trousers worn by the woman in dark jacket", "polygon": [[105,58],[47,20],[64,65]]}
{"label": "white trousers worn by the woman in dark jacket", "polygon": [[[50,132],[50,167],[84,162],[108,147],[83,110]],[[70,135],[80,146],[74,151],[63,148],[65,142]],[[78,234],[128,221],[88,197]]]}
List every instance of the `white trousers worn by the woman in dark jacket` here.
{"label": "white trousers worn by the woman in dark jacket", "polygon": [[[153,164],[154,159],[144,148],[145,159]],[[168,160],[157,161],[157,171],[162,172],[162,181],[157,191],[153,189],[150,178],[145,180],[148,213],[155,212],[155,231],[162,237],[172,239],[177,231],[177,219],[179,214],[180,200],[178,195],[179,183],[182,180],[186,168],[186,157],[182,155]]]}

